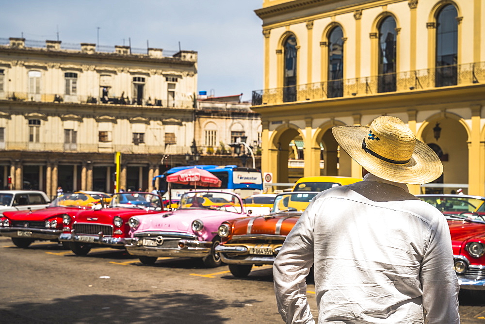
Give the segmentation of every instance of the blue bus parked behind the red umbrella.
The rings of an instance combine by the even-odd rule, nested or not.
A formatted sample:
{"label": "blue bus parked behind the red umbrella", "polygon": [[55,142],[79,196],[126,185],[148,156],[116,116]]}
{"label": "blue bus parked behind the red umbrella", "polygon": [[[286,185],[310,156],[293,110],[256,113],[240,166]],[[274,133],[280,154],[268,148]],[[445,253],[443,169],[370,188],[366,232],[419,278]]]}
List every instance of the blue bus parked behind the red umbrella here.
{"label": "blue bus parked behind the red umbrella", "polygon": [[[165,178],[175,172],[192,169],[197,167],[198,169],[204,169],[209,171],[222,181],[220,188],[212,188],[214,190],[230,191],[239,194],[242,198],[246,198],[252,194],[260,194],[263,191],[263,177],[261,170],[240,167],[237,165],[188,165],[188,166],[176,166],[162,175],[156,176],[152,180],[153,187],[156,188],[156,181],[159,180],[159,187],[156,188],[160,195],[165,199],[168,199],[168,185]],[[197,189],[205,189],[206,187],[197,186]],[[194,189],[193,185],[171,183],[171,199],[172,201],[178,201],[180,196],[189,190]]]}

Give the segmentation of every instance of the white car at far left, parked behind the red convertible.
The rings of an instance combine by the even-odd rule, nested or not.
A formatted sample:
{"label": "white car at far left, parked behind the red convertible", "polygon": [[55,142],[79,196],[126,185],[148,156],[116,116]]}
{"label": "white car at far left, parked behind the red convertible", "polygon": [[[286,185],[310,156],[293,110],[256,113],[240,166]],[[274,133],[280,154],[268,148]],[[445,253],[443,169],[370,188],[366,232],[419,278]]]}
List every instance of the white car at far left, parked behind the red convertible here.
{"label": "white car at far left, parked behind the red convertible", "polygon": [[27,211],[45,208],[49,197],[38,190],[0,190],[0,216],[4,211]]}

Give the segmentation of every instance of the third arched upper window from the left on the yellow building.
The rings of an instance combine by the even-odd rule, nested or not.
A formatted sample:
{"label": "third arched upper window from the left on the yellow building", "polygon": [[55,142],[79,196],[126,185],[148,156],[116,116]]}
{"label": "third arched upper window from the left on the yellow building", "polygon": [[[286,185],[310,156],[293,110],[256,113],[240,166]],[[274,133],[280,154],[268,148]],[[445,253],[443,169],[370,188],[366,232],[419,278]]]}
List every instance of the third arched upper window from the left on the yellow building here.
{"label": "third arched upper window from the left on the yellow building", "polygon": [[378,92],[396,91],[396,21],[387,16],[379,26]]}

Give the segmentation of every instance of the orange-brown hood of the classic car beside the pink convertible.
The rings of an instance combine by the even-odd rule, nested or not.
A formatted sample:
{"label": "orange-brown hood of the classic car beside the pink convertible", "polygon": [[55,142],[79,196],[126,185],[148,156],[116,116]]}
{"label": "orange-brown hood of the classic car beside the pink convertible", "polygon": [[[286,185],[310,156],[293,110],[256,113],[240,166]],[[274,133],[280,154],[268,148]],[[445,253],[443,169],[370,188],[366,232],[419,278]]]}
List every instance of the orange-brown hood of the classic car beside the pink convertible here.
{"label": "orange-brown hood of the classic car beside the pink convertible", "polygon": [[288,235],[300,218],[301,213],[272,214],[256,216],[248,232],[249,219],[237,219],[233,223],[232,235],[273,234]]}

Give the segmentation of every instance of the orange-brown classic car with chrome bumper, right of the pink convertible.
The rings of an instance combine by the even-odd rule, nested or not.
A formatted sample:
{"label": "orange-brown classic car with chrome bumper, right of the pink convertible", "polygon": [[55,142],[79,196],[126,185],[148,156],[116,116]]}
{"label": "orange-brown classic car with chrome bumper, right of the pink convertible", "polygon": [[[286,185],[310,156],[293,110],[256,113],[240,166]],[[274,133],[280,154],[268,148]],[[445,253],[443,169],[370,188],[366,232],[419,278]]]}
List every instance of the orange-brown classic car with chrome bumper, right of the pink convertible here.
{"label": "orange-brown classic car with chrome bumper, right of the pink convertible", "polygon": [[218,229],[221,244],[215,248],[236,277],[249,275],[253,265],[273,264],[281,245],[319,192],[286,192],[275,197],[269,215],[233,219]]}

